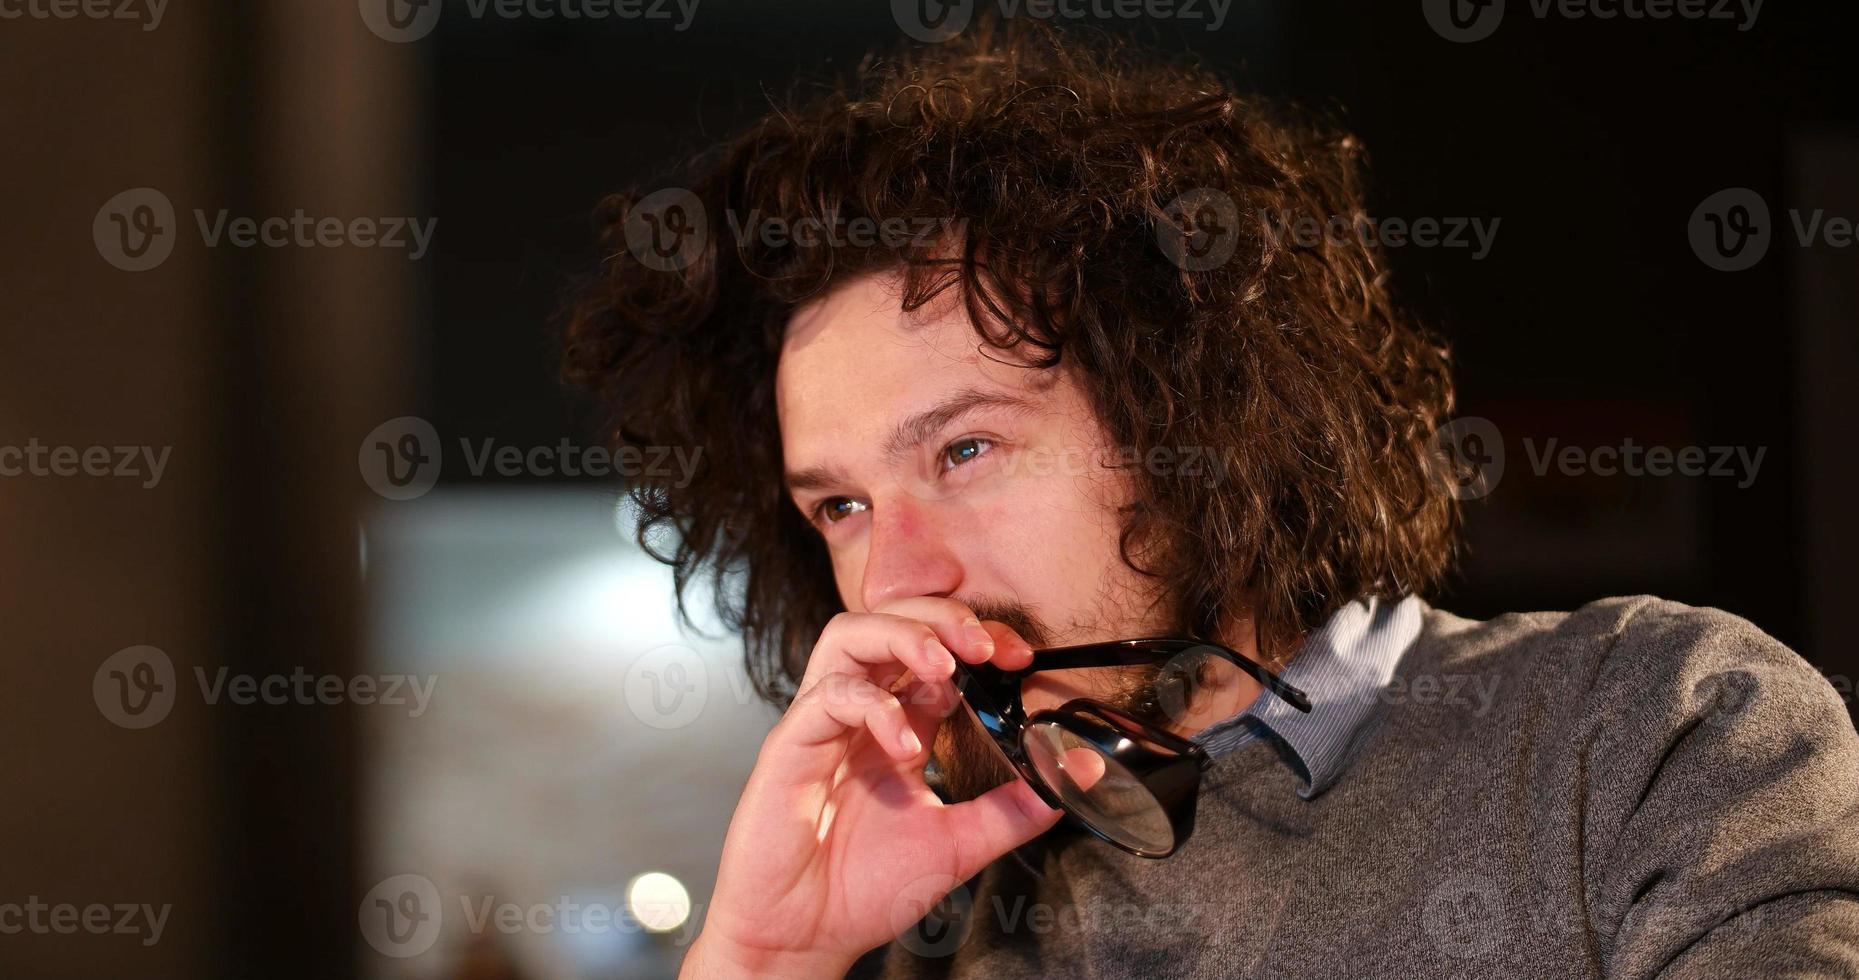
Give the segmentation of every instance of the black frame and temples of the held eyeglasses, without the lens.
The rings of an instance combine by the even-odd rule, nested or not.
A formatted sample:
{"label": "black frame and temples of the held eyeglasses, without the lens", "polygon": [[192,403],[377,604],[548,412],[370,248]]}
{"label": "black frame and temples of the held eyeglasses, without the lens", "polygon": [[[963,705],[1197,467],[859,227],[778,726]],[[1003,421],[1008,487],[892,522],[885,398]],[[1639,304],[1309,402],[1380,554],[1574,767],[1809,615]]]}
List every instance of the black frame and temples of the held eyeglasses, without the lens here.
{"label": "black frame and temples of the held eyeglasses, without the lens", "polygon": [[[1034,673],[1054,669],[1140,668],[1167,662],[1190,651],[1218,655],[1221,660],[1251,675],[1286,705],[1301,712],[1311,710],[1311,699],[1305,692],[1257,660],[1221,643],[1184,636],[1145,636],[1035,649],[1032,664],[1021,669],[1000,669],[993,664],[963,664],[957,660],[956,690],[982,723],[982,729],[993,738],[995,748],[1019,772],[1021,779],[1039,794],[1045,805],[1063,811],[1075,824],[1117,850],[1138,857],[1162,859],[1180,850],[1193,833],[1201,772],[1214,764],[1206,749],[1180,735],[1149,725],[1121,709],[1091,697],[1073,697],[1058,709],[1043,709],[1028,716],[1021,695],[1021,682]],[[1060,792],[1047,785],[1039,770],[1026,759],[1026,729],[1041,722],[1058,723],[1067,733],[1091,742],[1106,759],[1136,777],[1156,803],[1160,803],[1169,822],[1173,833],[1169,846],[1166,850],[1143,850],[1125,844],[1073,813],[1060,798]],[[1143,742],[1158,746],[1164,751],[1145,748]]]}

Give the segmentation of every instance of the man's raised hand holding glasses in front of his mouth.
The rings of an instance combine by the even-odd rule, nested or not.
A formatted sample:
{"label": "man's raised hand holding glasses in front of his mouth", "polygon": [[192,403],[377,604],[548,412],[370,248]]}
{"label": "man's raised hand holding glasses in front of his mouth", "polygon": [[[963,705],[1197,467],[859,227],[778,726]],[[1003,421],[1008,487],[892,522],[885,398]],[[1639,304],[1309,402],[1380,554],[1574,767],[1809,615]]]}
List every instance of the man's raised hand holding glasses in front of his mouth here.
{"label": "man's raised hand holding glasses in front of his mouth", "polygon": [[844,976],[1058,822],[1019,779],[956,805],[924,783],[926,746],[961,707],[954,656],[1017,669],[1032,647],[954,599],[900,599],[827,623],[736,803],[682,976]]}

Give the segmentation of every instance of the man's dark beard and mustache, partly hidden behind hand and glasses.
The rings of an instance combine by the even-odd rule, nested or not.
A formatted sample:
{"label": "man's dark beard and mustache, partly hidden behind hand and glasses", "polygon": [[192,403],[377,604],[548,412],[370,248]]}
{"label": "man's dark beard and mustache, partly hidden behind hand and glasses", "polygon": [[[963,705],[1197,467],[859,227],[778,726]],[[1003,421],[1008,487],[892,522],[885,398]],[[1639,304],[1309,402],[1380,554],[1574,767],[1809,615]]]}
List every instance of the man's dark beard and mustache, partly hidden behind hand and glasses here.
{"label": "man's dark beard and mustache, partly hidden behind hand and glasses", "polygon": [[[1052,630],[1019,603],[974,601],[969,608],[982,619],[1006,623],[1035,651],[1052,645]],[[1037,655],[1034,656],[1037,658]],[[1091,699],[1130,714],[1143,723],[1167,727],[1171,712],[1164,709],[1167,697],[1164,688],[1171,681],[1164,679],[1164,664],[1095,668],[1089,671],[1093,675]],[[1028,707],[1028,712],[1032,710]],[[935,740],[930,744],[930,759],[939,777],[935,783],[939,783],[941,794],[950,803],[974,800],[998,785],[1021,777],[967,703],[956,709],[943,722],[943,727],[937,729]]]}

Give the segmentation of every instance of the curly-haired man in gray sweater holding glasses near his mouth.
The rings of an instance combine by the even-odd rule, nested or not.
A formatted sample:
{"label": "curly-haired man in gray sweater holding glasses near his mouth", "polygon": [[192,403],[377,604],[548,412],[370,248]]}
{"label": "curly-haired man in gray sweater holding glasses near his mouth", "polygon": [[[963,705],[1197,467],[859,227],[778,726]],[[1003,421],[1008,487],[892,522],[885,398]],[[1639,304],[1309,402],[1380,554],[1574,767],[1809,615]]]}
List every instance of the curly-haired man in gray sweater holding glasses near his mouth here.
{"label": "curly-haired man in gray sweater holding glasses near his mouth", "polygon": [[[987,26],[606,205],[567,372],[617,444],[703,448],[639,541],[786,705],[686,976],[1859,976],[1859,736],[1800,656],[1647,597],[1424,603],[1446,350],[1368,236],[1285,234],[1363,214],[1351,138]],[[1311,701],[1022,684],[1206,753],[1164,861],[1056,828],[952,684],[1138,636]]]}

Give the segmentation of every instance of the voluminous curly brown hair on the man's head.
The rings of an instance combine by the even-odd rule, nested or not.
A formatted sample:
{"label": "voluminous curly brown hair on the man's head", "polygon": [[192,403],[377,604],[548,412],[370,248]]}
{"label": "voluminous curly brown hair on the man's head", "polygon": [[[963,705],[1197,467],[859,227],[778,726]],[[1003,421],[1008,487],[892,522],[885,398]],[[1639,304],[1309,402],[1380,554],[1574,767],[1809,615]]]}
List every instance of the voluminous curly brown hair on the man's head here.
{"label": "voluminous curly brown hair on the man's head", "polygon": [[[1338,606],[1441,580],[1459,524],[1430,448],[1452,411],[1446,348],[1396,309],[1372,240],[1281,234],[1365,214],[1357,139],[1037,24],[866,58],[792,102],[690,166],[688,262],[628,249],[639,195],[602,201],[606,258],[565,314],[565,376],[599,394],[615,444],[703,448],[688,485],[628,487],[638,539],[675,569],[686,621],[688,588],[714,576],[762,695],[792,697],[840,612],[825,543],[784,495],[775,361],[794,309],[863,273],[900,273],[905,309],[954,286],[985,344],[1069,359],[1136,459],[1225,450],[1214,482],[1130,467],[1125,562],[1164,543],[1138,571],[1186,629],[1249,621],[1283,664]],[[1238,216],[1212,268],[1162,247],[1188,192]],[[744,216],[961,234],[745,236]]]}

